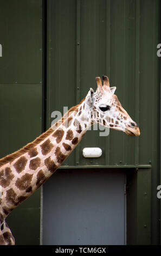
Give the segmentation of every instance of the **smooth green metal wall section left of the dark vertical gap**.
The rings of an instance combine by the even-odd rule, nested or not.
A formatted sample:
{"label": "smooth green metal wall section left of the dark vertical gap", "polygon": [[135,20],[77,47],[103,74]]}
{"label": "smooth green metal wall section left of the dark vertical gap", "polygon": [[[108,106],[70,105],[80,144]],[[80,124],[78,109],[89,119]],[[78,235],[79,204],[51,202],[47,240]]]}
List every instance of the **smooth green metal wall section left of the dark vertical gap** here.
{"label": "smooth green metal wall section left of the dark vertical gap", "polygon": [[[41,0],[0,1],[0,158],[41,134]],[[40,243],[40,190],[11,212],[16,245]]]}

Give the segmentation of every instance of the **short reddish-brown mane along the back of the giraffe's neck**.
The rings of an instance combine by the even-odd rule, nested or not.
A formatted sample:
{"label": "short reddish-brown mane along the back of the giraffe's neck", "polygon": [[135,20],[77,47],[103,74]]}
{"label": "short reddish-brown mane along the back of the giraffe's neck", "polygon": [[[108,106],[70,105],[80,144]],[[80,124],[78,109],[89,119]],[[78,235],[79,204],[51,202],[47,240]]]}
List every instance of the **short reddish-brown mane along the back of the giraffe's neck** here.
{"label": "short reddish-brown mane along the back of the giraffe's neck", "polygon": [[[85,97],[86,98],[86,97]],[[27,153],[31,148],[36,147],[39,143],[41,143],[45,138],[47,138],[52,132],[54,132],[58,127],[65,121],[67,118],[72,114],[72,112],[76,111],[78,112],[78,107],[81,105],[81,103],[85,100],[85,98],[76,106],[70,108],[63,117],[57,121],[53,126],[51,126],[46,132],[42,133],[39,137],[37,137],[33,142],[28,143],[23,148],[17,150],[16,152],[9,154],[2,159],[0,159],[0,167],[2,167],[4,164],[8,162],[14,161],[17,157],[22,156],[23,154]]]}

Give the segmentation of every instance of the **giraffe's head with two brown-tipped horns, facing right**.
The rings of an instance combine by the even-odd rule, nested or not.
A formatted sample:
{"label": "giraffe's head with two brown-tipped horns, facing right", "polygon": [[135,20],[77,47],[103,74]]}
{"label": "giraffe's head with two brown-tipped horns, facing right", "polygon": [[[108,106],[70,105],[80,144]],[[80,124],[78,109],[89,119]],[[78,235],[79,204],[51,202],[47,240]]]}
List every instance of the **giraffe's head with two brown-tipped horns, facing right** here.
{"label": "giraffe's head with two brown-tipped horns, facing right", "polygon": [[106,127],[126,132],[127,135],[139,136],[138,125],[131,119],[130,115],[121,106],[118,97],[114,94],[116,87],[110,88],[107,76],[96,77],[98,88],[94,93],[91,88],[86,96],[86,106],[91,109],[93,123],[100,123]]}

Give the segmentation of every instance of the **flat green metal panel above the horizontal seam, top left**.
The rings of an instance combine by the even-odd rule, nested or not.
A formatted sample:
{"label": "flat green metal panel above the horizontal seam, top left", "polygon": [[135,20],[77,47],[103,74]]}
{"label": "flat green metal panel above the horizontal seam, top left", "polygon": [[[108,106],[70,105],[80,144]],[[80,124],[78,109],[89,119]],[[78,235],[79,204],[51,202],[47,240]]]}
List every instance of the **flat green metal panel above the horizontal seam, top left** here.
{"label": "flat green metal panel above the horizontal seam, top left", "polygon": [[1,84],[41,82],[39,3],[39,0],[1,0]]}

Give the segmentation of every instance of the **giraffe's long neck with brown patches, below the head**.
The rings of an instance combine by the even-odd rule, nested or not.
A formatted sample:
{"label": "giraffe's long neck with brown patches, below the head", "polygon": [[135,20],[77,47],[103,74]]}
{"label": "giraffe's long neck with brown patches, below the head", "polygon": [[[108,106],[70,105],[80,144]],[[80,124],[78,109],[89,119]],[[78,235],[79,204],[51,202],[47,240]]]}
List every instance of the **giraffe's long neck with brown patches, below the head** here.
{"label": "giraffe's long neck with brown patches, below the head", "polygon": [[84,101],[61,120],[43,141],[0,168],[0,217],[6,217],[59,168],[91,125]]}

